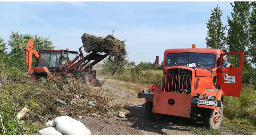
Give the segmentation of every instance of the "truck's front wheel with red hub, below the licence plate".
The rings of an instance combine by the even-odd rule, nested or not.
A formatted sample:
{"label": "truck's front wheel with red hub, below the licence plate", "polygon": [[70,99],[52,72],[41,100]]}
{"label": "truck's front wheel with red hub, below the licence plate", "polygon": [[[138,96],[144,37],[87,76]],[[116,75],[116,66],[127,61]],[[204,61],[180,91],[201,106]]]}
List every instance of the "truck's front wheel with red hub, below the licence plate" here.
{"label": "truck's front wheel with red hub, below the licence plate", "polygon": [[209,129],[218,129],[223,119],[223,104],[221,102],[221,110],[204,109],[203,124]]}

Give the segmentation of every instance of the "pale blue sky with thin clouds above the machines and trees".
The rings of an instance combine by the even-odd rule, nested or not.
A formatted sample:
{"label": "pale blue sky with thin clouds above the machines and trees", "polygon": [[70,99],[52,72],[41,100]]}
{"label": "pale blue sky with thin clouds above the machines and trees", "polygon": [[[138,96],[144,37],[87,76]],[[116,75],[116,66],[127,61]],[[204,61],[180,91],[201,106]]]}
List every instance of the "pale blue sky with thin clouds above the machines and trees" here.
{"label": "pale blue sky with thin clouds above the machines and trees", "polygon": [[154,62],[159,55],[162,62],[166,49],[206,48],[206,23],[217,4],[227,25],[230,2],[0,2],[0,36],[8,42],[19,31],[78,51],[84,33],[102,37],[115,30],[115,38],[126,40],[129,61]]}

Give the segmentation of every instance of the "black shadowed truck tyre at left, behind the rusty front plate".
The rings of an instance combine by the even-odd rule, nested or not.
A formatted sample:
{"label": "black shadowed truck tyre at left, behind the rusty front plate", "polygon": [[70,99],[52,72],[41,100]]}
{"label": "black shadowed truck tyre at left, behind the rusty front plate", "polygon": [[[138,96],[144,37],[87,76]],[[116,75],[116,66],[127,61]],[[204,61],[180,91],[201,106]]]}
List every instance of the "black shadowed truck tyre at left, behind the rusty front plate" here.
{"label": "black shadowed truck tyre at left, behind the rusty front plate", "polygon": [[163,114],[153,113],[152,109],[153,109],[153,102],[146,101],[146,103],[145,103],[145,113],[146,113],[147,117],[150,120],[158,121],[159,119],[161,119],[163,117]]}

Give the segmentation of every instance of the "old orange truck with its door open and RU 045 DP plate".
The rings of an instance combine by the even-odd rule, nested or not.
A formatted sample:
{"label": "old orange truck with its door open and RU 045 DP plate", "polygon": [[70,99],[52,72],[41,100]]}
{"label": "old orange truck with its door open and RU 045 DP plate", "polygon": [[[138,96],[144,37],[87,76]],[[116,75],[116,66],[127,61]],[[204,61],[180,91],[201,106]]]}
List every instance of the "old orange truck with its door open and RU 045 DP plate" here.
{"label": "old orange truck with its door open and RU 045 DP plate", "polygon": [[[223,57],[232,55],[239,56],[239,66],[222,67]],[[155,62],[159,63],[159,56]],[[200,114],[205,127],[218,129],[224,95],[240,97],[243,52],[196,49],[193,44],[191,49],[167,49],[162,67],[161,82],[151,82],[148,89],[138,92],[139,98],[145,98],[145,112],[151,120],[163,114],[188,118]]]}

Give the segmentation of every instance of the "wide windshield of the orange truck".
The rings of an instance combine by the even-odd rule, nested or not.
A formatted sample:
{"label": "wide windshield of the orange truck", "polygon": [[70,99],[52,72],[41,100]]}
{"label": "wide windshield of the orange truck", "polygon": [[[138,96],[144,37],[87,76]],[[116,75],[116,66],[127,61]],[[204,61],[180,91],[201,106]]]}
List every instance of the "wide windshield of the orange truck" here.
{"label": "wide windshield of the orange truck", "polygon": [[211,53],[169,53],[166,66],[188,66],[193,68],[214,68],[216,55]]}

